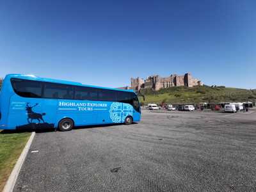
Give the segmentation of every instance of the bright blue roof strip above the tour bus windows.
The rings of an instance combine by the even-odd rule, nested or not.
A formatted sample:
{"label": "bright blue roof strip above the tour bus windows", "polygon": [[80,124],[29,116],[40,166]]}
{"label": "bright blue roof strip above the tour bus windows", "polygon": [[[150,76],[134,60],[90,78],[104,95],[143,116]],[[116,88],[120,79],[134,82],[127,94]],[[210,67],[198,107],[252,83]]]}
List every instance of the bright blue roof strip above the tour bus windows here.
{"label": "bright blue roof strip above the tour bus windows", "polygon": [[93,86],[89,84],[83,84],[83,83],[77,83],[73,81],[64,81],[64,80],[58,80],[58,79],[51,79],[51,78],[44,78],[44,77],[37,77],[34,75],[23,75],[23,74],[8,74],[5,76],[4,79],[11,79],[11,78],[19,78],[19,79],[28,79],[28,80],[34,80],[34,81],[45,81],[50,83],[62,83],[62,84],[70,84],[70,85],[77,85],[77,86],[88,86],[93,88],[102,88],[106,90],[116,90],[121,92],[134,92],[133,90],[120,90],[116,88],[106,88],[101,86]]}

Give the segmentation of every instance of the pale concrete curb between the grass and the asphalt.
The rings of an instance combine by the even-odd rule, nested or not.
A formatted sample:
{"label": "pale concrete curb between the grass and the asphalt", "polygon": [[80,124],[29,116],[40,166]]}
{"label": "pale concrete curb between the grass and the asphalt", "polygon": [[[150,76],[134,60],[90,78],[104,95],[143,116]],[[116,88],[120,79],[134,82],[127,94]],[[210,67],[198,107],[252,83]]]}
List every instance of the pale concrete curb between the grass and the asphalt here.
{"label": "pale concrete curb between the grass and the asphalt", "polygon": [[24,160],[28,154],[30,145],[31,145],[34,137],[35,137],[35,132],[32,132],[28,142],[26,143],[24,149],[22,150],[22,153],[20,154],[20,157],[19,157],[17,163],[15,164],[15,166],[12,170],[11,175],[9,176],[9,178],[4,186],[3,192],[12,192],[13,191],[13,188],[14,188],[16,180],[18,178],[20,169],[21,169],[22,164],[24,163]]}

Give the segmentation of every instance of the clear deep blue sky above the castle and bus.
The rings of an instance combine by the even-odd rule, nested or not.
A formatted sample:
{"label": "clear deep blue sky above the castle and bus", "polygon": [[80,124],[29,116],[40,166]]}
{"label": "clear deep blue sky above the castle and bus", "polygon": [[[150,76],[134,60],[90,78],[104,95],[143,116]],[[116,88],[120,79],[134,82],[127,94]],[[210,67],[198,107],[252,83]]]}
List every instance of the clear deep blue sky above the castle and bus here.
{"label": "clear deep blue sky above the castle and bus", "polygon": [[118,87],[191,72],[256,88],[256,1],[1,1],[0,77]]}

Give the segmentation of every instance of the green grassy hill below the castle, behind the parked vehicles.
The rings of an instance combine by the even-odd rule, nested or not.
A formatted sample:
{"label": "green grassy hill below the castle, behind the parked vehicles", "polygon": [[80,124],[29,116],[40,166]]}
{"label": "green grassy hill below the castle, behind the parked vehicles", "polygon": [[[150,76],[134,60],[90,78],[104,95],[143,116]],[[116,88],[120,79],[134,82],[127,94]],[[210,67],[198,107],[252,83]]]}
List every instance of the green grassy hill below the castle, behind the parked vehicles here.
{"label": "green grassy hill below the castle, behind the parked vehicles", "polygon": [[224,86],[185,86],[165,88],[159,91],[144,90],[145,100],[140,97],[141,104],[148,103],[171,103],[171,104],[194,104],[199,102],[245,102],[248,99],[256,100],[256,90],[238,88],[225,88]]}

